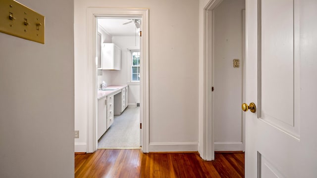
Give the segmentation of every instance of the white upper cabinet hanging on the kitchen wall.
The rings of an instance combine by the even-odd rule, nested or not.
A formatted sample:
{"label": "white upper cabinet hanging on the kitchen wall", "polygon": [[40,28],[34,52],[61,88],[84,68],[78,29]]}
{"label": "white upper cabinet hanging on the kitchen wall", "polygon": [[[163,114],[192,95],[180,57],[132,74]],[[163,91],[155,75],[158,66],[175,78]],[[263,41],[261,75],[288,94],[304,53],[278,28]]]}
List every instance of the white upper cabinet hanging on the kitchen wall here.
{"label": "white upper cabinet hanging on the kitchen wall", "polygon": [[113,43],[102,44],[102,69],[121,70],[121,49]]}

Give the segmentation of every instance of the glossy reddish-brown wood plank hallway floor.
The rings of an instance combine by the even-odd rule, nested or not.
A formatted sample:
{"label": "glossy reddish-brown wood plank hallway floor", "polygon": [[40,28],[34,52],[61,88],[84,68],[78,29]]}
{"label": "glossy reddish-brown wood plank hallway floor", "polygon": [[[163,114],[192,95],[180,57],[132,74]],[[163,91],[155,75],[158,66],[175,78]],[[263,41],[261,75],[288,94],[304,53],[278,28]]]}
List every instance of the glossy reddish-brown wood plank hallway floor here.
{"label": "glossy reddish-brown wood plank hallway floor", "polygon": [[139,149],[99,149],[75,154],[75,178],[244,178],[244,153],[142,153]]}

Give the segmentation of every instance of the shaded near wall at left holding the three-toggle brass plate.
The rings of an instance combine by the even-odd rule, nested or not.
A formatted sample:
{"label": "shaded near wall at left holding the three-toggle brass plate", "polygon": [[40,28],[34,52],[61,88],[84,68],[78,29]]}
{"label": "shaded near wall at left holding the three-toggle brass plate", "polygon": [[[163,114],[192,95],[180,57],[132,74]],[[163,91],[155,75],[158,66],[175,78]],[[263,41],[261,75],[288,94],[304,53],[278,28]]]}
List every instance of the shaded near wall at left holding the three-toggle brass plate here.
{"label": "shaded near wall at left holding the three-toggle brass plate", "polygon": [[0,33],[0,177],[72,178],[74,2],[18,1],[45,16],[45,45]]}

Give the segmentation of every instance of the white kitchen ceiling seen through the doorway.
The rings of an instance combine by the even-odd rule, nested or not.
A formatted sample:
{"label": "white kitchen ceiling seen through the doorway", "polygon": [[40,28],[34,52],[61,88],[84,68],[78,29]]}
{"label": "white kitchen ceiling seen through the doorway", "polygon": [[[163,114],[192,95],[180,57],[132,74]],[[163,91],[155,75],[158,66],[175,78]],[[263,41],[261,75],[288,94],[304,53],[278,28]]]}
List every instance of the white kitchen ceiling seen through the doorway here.
{"label": "white kitchen ceiling seen through the doorway", "polygon": [[98,25],[103,27],[112,37],[134,37],[135,35],[138,36],[140,29],[136,29],[133,22],[123,25],[123,23],[130,22],[131,20],[129,19],[98,18]]}

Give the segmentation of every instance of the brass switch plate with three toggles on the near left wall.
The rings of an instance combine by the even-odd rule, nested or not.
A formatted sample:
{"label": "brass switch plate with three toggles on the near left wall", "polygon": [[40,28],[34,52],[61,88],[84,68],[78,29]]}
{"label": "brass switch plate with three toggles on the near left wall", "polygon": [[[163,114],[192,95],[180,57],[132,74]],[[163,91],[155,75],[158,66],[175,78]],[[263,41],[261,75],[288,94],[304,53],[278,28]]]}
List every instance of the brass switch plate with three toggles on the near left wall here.
{"label": "brass switch plate with three toggles on the near left wall", "polygon": [[15,0],[0,0],[0,32],[45,43],[45,17]]}

